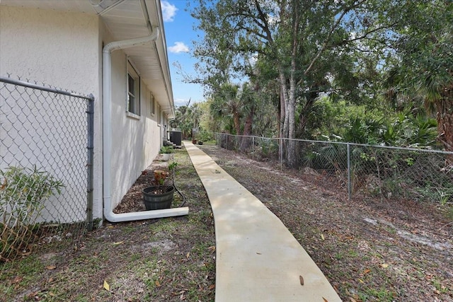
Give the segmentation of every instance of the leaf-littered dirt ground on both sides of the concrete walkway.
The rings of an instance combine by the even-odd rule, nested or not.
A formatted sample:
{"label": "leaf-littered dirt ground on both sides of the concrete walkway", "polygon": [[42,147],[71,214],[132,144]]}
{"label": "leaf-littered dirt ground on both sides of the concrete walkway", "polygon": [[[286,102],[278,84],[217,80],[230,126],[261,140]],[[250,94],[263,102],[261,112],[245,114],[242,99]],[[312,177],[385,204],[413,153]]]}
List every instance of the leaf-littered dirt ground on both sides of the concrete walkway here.
{"label": "leaf-littered dirt ground on both sides of the concrete walkway", "polygon": [[[348,201],[328,175],[281,171],[272,161],[200,148],[285,223],[343,301],[453,301],[453,218],[446,208],[360,196]],[[188,216],[105,222],[81,243],[36,247],[21,261],[0,264],[0,301],[214,301],[209,200],[187,153],[174,157]],[[115,212],[143,210],[142,188],[166,165],[154,161]],[[176,194],[172,207],[182,201]]]}

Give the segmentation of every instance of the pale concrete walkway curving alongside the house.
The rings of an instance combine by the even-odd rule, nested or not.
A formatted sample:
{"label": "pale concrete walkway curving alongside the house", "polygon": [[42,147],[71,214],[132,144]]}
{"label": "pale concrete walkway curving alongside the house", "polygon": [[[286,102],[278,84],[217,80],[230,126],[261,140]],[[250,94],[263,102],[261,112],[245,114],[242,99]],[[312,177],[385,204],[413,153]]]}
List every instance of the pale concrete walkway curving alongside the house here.
{"label": "pale concrete walkway curving alongside the house", "polygon": [[184,145],[214,214],[216,302],[341,301],[275,214],[210,156]]}

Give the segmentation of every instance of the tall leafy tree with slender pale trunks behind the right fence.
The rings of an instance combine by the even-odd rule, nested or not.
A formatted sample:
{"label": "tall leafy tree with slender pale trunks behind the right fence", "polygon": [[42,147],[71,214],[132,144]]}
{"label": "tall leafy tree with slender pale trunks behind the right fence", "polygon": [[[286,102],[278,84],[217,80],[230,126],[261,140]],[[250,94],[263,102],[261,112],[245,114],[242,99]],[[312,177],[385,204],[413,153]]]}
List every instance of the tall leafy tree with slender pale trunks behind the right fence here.
{"label": "tall leafy tree with slender pale trunks behind the right fence", "polygon": [[[210,74],[206,82],[211,86],[237,74],[251,76],[253,56],[272,65],[277,75],[273,80],[279,85],[280,137],[294,139],[297,122],[303,130],[319,94],[333,83],[329,77],[340,74],[338,69],[354,67],[347,64],[348,47],[360,40],[382,40],[391,24],[381,7],[394,6],[390,0],[200,0],[193,16],[200,21],[205,39],[197,45],[195,57],[205,64],[202,70]],[[332,64],[334,58],[342,64]],[[260,76],[272,74],[260,71]],[[296,165],[291,140],[287,164]]]}

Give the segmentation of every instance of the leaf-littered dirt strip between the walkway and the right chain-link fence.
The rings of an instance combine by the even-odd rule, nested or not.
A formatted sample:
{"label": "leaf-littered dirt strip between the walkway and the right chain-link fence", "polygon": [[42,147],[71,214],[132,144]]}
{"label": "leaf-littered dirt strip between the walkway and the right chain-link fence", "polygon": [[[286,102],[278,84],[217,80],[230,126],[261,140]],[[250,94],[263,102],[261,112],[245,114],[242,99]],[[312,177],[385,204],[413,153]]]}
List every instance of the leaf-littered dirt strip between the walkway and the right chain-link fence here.
{"label": "leaf-littered dirt strip between the walkway and the right chain-link fence", "polygon": [[201,148],[285,223],[343,301],[453,301],[447,209],[410,200],[348,201],[328,175]]}

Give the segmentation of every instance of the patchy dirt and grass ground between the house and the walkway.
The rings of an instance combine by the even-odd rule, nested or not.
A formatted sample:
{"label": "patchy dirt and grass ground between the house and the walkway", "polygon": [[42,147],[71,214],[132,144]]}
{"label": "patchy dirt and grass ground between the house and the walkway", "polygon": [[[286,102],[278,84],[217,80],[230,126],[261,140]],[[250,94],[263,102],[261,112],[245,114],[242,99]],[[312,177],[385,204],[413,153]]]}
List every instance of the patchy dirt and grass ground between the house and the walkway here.
{"label": "patchy dirt and grass ground between the house and the walkway", "polygon": [[[0,301],[214,301],[215,238],[209,200],[187,152],[173,154],[187,216],[109,223],[81,242],[45,240],[33,253],[0,263]],[[159,158],[142,172],[115,212],[144,210],[142,189]],[[172,207],[182,204],[176,193]],[[59,238],[71,238],[62,231]],[[44,238],[43,238],[44,239]]]}

